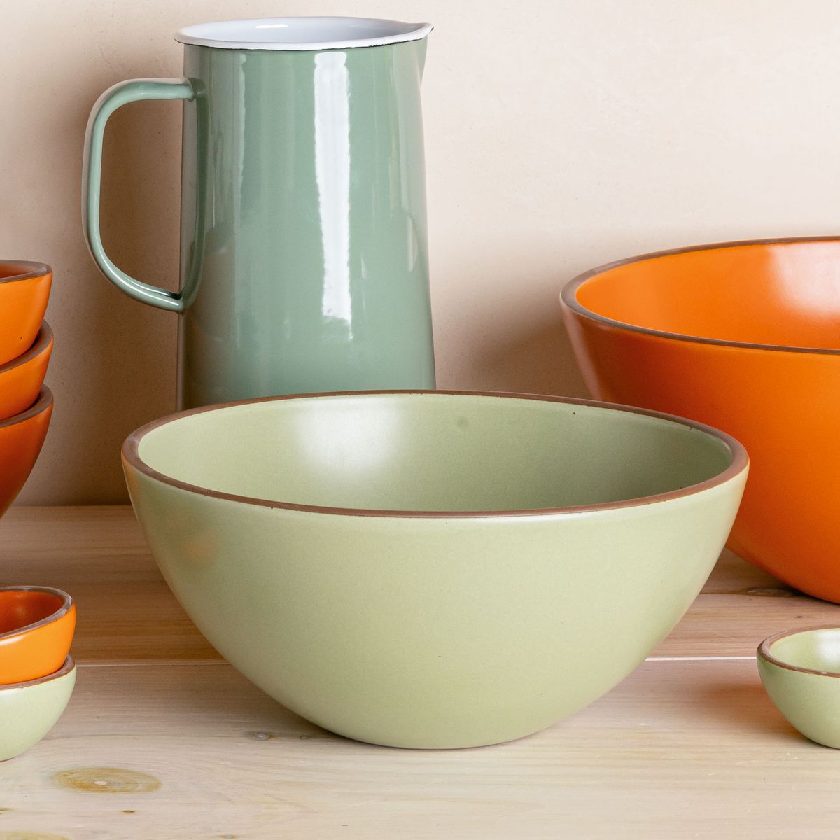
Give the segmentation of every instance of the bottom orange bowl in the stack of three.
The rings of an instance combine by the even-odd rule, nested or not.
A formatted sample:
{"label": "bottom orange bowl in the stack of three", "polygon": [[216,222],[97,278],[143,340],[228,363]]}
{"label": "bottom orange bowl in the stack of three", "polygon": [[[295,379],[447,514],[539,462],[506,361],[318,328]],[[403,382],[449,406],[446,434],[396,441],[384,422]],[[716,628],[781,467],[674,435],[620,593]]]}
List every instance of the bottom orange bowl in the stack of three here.
{"label": "bottom orange bowl in the stack of three", "polygon": [[42,388],[38,402],[0,421],[0,517],[29,478],[52,417],[52,394]]}

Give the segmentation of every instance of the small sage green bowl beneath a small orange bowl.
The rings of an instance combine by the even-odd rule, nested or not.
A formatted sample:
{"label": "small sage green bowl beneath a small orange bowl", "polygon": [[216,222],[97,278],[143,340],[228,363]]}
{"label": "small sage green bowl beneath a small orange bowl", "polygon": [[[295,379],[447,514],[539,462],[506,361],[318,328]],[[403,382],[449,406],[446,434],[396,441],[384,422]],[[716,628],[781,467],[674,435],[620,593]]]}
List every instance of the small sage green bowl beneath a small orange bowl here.
{"label": "small sage green bowl beneath a small orange bowl", "polygon": [[68,656],[57,675],[0,685],[0,761],[34,747],[64,712],[76,685],[76,664]]}

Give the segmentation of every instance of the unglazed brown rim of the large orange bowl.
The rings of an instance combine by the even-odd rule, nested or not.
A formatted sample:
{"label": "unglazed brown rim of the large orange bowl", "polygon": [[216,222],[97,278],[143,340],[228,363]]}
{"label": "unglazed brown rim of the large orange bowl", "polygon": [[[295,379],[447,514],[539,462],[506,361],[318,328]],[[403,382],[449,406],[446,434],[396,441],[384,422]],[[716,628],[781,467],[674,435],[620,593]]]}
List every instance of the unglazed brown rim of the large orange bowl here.
{"label": "unglazed brown rim of the large orange bowl", "polygon": [[699,335],[686,335],[685,333],[670,333],[664,329],[652,329],[648,327],[640,327],[638,324],[627,323],[625,321],[617,321],[615,318],[607,318],[606,315],[599,315],[597,312],[592,312],[587,309],[577,299],[577,292],[580,286],[583,286],[586,281],[591,280],[606,271],[621,268],[623,265],[632,265],[633,263],[644,262],[645,260],[656,260],[659,257],[669,257],[680,254],[690,254],[694,251],[714,251],[727,248],[748,248],[751,245],[791,245],[791,244],[806,244],[808,242],[840,242],[840,236],[791,236],[786,239],[743,239],[740,242],[718,242],[709,245],[690,245],[687,248],[674,248],[666,251],[653,251],[650,254],[642,254],[635,257],[627,257],[625,260],[616,260],[606,265],[599,265],[589,271],[585,271],[570,280],[563,286],[560,291],[560,300],[572,312],[590,318],[592,321],[606,324],[609,327],[617,327],[627,330],[631,333],[643,333],[645,335],[655,335],[660,339],[672,339],[673,341],[690,341],[693,344],[717,344],[721,347],[739,347],[741,349],[753,350],[774,350],[777,353],[813,353],[820,355],[840,355],[840,348],[833,349],[829,347],[795,347],[793,345],[785,344],[755,344],[749,341],[728,341],[727,339],[708,339]]}

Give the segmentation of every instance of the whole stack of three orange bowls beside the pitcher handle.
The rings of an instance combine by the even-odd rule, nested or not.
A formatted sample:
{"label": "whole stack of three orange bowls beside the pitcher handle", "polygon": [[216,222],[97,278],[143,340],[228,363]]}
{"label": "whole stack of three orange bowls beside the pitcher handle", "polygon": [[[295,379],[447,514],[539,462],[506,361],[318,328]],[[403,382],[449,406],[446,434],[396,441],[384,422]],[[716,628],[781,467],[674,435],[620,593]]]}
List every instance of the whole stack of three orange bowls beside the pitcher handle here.
{"label": "whole stack of three orange bowls beside the pitcher handle", "polygon": [[0,261],[0,516],[29,478],[50,426],[50,286],[48,265]]}

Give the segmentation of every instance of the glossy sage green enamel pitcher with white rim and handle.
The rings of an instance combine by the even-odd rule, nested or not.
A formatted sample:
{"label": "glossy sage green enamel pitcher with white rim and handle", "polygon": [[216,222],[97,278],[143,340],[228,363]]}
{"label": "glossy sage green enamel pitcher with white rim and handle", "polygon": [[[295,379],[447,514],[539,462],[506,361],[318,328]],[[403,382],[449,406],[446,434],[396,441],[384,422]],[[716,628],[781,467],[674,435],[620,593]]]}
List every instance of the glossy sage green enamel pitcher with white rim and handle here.
{"label": "glossy sage green enamel pitcher with white rim and handle", "polygon": [[[434,387],[420,109],[431,29],[191,26],[176,34],[184,78],[123,81],[94,105],[87,242],[116,286],[181,315],[180,407]],[[99,231],[105,123],[141,99],[184,100],[177,292],[125,274]]]}

